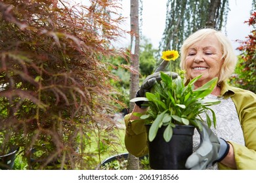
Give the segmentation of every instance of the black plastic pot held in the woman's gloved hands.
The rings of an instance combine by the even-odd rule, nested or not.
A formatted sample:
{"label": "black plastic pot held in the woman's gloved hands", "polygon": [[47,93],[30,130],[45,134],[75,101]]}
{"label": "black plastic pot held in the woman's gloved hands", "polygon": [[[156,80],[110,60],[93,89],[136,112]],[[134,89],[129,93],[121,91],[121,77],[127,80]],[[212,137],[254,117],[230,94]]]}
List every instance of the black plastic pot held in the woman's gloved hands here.
{"label": "black plastic pot held in the woman's gloved hands", "polygon": [[[149,131],[151,125],[146,125]],[[194,126],[176,125],[171,141],[165,142],[163,131],[158,129],[154,141],[148,141],[150,167],[156,170],[186,170],[185,163],[193,152]]]}

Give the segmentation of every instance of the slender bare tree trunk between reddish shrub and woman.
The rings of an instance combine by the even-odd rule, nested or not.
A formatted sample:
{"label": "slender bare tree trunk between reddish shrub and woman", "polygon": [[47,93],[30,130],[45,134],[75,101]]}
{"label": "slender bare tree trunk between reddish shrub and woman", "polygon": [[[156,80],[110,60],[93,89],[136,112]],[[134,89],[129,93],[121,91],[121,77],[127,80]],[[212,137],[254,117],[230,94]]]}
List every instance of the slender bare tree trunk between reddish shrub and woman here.
{"label": "slender bare tree trunk between reddish shrub and woman", "polygon": [[[131,0],[131,67],[135,71],[139,71],[139,0]],[[139,90],[139,72],[131,73],[130,99],[133,99]],[[134,103],[130,103],[130,108],[134,107]],[[132,154],[128,156],[127,169],[139,169],[139,158]]]}

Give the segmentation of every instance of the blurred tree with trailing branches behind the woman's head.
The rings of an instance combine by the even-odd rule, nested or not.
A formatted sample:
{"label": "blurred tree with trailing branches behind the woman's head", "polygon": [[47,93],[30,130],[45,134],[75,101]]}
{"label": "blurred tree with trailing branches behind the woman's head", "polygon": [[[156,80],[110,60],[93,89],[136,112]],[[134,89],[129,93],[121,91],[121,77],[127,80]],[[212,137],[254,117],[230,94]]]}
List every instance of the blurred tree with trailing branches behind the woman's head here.
{"label": "blurred tree with trailing branches behind the woman's head", "polygon": [[[168,0],[160,50],[180,50],[184,39],[202,27],[223,29],[227,15],[228,0]],[[161,58],[160,54],[158,58]],[[171,64],[174,71],[178,71],[179,59]]]}

